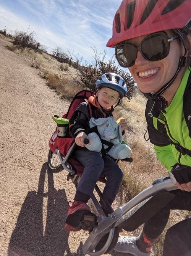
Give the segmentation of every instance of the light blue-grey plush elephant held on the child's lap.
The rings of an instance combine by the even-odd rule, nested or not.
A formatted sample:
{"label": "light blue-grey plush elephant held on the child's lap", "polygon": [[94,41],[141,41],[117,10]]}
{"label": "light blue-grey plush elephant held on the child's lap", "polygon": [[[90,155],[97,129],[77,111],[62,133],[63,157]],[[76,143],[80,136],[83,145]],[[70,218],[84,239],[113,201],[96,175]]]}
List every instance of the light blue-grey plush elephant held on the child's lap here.
{"label": "light blue-grey plush elephant held on the child's lap", "polygon": [[[97,130],[100,134],[101,139],[112,142],[114,145],[108,151],[108,155],[114,159],[125,159],[131,154],[131,148],[123,141],[121,126],[115,121],[113,117],[98,118],[92,117],[89,121],[90,128],[97,126]],[[102,149],[102,143],[99,136],[92,132],[88,134],[90,145],[86,145],[87,149],[91,151],[100,152]],[[122,143],[122,144],[121,144]],[[108,146],[104,144],[104,148]]]}

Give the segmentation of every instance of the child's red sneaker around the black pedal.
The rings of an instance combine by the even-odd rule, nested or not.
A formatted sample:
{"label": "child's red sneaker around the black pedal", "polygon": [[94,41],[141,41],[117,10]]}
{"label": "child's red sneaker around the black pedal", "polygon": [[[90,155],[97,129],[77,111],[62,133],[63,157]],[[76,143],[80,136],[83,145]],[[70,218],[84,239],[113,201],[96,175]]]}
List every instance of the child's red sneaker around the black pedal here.
{"label": "child's red sneaker around the black pedal", "polygon": [[[72,203],[71,206],[70,206],[70,203]],[[83,203],[81,201],[73,201],[73,202],[69,201],[68,206],[69,206],[69,208],[68,208],[68,213],[67,213],[67,217],[66,217],[66,222],[67,222],[68,216],[77,212],[77,211],[82,212],[83,214],[84,214],[84,212],[91,213],[91,210],[90,210],[89,206],[86,203]],[[67,231],[79,231],[79,230],[81,230],[81,228],[77,228],[77,227],[69,225],[67,223],[65,224],[64,229],[67,230]]]}

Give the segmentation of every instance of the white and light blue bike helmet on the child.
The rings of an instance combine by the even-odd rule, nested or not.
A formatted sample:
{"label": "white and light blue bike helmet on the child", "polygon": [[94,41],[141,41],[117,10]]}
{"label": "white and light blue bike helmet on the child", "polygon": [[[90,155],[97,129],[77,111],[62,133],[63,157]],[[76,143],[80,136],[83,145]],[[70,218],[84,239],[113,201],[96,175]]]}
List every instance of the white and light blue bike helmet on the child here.
{"label": "white and light blue bike helmet on the child", "polygon": [[102,74],[102,76],[100,76],[100,78],[95,82],[95,86],[97,89],[102,87],[113,89],[119,92],[121,99],[125,97],[127,92],[127,85],[125,80],[115,73]]}

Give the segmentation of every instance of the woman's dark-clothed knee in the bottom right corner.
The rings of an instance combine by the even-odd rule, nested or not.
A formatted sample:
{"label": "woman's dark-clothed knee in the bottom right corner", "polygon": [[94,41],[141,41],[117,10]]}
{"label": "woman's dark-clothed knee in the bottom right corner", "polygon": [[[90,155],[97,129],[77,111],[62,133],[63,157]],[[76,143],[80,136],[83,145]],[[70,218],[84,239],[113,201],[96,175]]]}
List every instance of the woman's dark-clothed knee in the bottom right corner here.
{"label": "woman's dark-clothed knee in the bottom right corner", "polygon": [[191,218],[180,221],[168,229],[162,256],[191,255]]}

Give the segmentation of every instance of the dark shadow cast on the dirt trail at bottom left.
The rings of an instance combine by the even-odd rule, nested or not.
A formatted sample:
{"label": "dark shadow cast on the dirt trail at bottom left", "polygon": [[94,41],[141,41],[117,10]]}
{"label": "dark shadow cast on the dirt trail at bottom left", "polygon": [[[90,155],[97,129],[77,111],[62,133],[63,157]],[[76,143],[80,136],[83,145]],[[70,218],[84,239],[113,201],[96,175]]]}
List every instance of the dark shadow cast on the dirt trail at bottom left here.
{"label": "dark shadow cast on the dirt trail at bottom left", "polygon": [[[47,173],[47,175],[46,175]],[[48,178],[48,192],[44,192]],[[43,198],[47,197],[47,208],[43,208]],[[65,190],[56,190],[53,174],[47,171],[47,163],[42,165],[38,191],[29,191],[19,213],[15,229],[11,235],[8,256],[36,255],[84,255],[82,243],[76,254],[70,252],[69,233],[64,230],[64,209],[68,208]],[[43,231],[43,212],[46,211],[46,226]]]}

